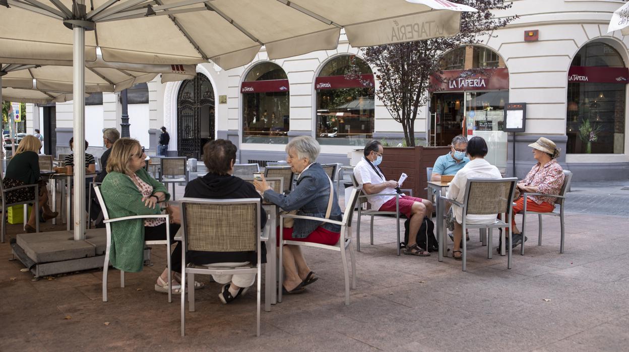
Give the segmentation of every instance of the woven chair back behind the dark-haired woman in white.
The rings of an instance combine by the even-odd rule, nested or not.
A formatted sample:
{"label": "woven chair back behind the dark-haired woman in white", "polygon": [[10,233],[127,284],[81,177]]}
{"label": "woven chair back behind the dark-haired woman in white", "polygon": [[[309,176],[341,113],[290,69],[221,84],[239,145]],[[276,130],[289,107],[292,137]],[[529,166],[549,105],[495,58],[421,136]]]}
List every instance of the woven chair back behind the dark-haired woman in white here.
{"label": "woven chair back behind the dark-haired woman in white", "polygon": [[467,215],[506,213],[518,179],[468,179]]}

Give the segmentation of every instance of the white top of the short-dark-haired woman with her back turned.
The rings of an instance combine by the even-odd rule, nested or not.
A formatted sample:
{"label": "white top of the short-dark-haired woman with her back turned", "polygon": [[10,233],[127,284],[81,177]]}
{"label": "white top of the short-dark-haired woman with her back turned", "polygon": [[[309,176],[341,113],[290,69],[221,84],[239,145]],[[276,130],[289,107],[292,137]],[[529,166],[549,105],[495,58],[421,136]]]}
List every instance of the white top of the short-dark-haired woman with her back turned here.
{"label": "white top of the short-dark-haired woman with her back turned", "polygon": [[[489,164],[485,159],[479,158],[467,162],[465,166],[455,174],[454,179],[450,182],[447,198],[454,199],[459,203],[465,200],[465,185],[468,178],[503,178],[498,171],[498,167]],[[458,205],[452,205],[454,216],[459,224],[463,222],[463,208]],[[494,224],[498,214],[490,215],[467,215],[465,222],[467,224]]]}

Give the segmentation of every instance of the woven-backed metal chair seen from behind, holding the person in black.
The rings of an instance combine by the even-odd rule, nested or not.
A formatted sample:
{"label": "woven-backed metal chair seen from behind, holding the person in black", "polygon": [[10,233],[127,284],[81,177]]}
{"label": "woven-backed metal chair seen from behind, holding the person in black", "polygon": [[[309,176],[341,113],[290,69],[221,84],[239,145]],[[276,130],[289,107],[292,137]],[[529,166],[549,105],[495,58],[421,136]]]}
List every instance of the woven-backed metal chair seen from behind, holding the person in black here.
{"label": "woven-backed metal chair seen from behind, holding the person in black", "polygon": [[[260,199],[211,200],[182,198],[182,265],[181,285],[188,283],[188,308],[194,312],[194,275],[255,274],[257,281],[257,331],[260,336]],[[274,244],[272,244],[274,245]],[[255,251],[257,263],[249,268],[187,267],[186,251],[243,252]],[[181,294],[181,336],[186,331],[186,290]]]}

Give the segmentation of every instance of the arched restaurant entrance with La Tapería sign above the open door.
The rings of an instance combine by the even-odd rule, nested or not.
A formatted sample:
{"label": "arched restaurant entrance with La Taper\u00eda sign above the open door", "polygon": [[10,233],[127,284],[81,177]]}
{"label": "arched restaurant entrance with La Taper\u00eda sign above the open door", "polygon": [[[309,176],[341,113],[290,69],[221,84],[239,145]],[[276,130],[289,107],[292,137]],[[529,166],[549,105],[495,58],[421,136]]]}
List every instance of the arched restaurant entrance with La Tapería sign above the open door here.
{"label": "arched restaurant entrance with La Taper\u00eda sign above the open door", "polygon": [[456,135],[486,140],[487,161],[506,171],[504,105],[509,103],[509,71],[498,53],[467,45],[445,54],[443,74],[433,77],[428,145],[449,145]]}

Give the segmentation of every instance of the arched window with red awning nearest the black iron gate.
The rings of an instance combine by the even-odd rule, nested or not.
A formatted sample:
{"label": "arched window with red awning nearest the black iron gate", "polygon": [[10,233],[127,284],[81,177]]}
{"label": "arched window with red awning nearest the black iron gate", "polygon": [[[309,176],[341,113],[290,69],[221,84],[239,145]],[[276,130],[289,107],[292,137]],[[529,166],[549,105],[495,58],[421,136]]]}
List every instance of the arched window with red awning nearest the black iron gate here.
{"label": "arched window with red awning nearest the black iron gate", "polygon": [[254,65],[240,92],[243,143],[287,143],[289,85],[282,67],[273,62]]}

